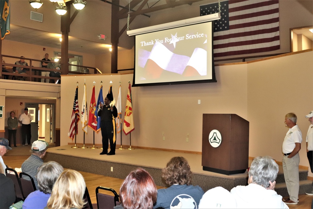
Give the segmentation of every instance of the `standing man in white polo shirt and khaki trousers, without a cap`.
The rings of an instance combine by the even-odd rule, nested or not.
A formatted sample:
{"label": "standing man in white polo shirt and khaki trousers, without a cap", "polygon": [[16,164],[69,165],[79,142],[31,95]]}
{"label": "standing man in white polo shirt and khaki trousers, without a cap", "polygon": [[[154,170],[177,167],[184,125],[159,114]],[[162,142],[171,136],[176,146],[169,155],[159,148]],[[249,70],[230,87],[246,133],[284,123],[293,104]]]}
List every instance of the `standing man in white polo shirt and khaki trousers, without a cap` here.
{"label": "standing man in white polo shirt and khaki trousers, without a cap", "polygon": [[285,183],[289,194],[288,199],[283,201],[287,205],[297,205],[299,199],[299,151],[301,149],[302,133],[298,127],[295,113],[288,113],[285,116],[285,126],[289,128],[282,146],[283,171]]}

